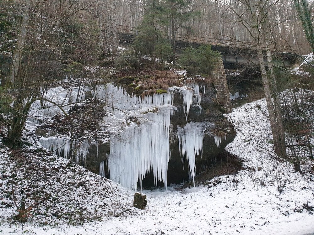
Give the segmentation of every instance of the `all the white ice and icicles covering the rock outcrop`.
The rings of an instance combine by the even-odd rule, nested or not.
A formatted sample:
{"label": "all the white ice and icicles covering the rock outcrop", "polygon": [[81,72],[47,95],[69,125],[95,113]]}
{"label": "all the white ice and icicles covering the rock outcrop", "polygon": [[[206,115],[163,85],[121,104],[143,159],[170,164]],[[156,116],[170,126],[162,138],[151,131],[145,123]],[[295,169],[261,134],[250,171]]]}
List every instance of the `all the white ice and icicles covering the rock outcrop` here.
{"label": "all the white ice and icicles covering the rock outcrop", "polygon": [[[46,91],[46,102],[41,108],[40,102],[35,102],[30,111],[33,120],[37,117],[52,117],[63,107],[68,112],[70,105],[85,100],[88,91],[91,97],[106,101],[104,109],[107,115],[103,118],[104,128],[111,136],[111,149],[107,157],[110,178],[128,188],[137,188],[137,181],[142,180],[150,171],[154,174],[154,181],[165,183],[167,190],[167,168],[170,158],[169,132],[172,106],[172,90],[180,90],[183,97],[183,109],[186,116],[192,106],[195,95],[197,105],[205,93],[205,86],[191,83],[188,86],[172,87],[164,94],[134,96],[114,84],[91,87],[62,87],[51,88]],[[30,119],[31,120],[31,119]],[[189,123],[178,131],[179,149],[187,159],[190,174],[194,181],[195,157],[202,153],[203,136],[201,128],[195,128],[196,123]],[[70,141],[66,137],[42,137],[41,144],[54,154],[69,158]],[[86,159],[91,144],[88,141],[77,143],[76,161]],[[75,142],[74,142],[75,145]],[[183,158],[183,159],[184,159]],[[105,162],[100,163],[100,175],[105,175]]]}

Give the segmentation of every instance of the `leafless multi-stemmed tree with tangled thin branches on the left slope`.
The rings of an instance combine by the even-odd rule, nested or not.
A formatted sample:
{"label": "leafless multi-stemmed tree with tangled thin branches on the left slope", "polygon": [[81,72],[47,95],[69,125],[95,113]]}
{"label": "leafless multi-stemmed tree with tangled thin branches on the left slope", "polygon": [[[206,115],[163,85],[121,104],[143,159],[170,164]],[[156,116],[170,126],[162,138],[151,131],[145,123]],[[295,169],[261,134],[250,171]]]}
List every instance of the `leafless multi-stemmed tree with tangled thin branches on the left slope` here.
{"label": "leafless multi-stemmed tree with tangled thin branches on the left slope", "polygon": [[[4,3],[8,12],[9,9],[14,9],[11,11],[11,18],[19,15],[19,20],[11,27],[11,30],[16,31],[17,43],[13,45],[15,49],[9,66],[9,76],[1,79],[2,85],[9,85],[8,95],[13,99],[13,106],[8,107],[8,115],[2,120],[8,126],[6,141],[9,145],[19,143],[32,103],[36,100],[44,101],[40,94],[46,86],[45,82],[57,78],[59,71],[62,71],[62,64],[68,56],[65,51],[68,50],[68,44],[64,45],[63,41],[71,42],[70,53],[73,57],[80,53],[80,59],[84,62],[91,59],[88,56],[93,56],[86,51],[84,54],[81,52],[85,49],[84,45],[88,44],[85,39],[90,41],[92,34],[88,33],[88,37],[84,38],[85,34],[79,29],[75,29],[76,34],[79,35],[80,42],[84,39],[85,43],[77,46],[75,52],[72,50],[76,27],[74,23],[69,24],[78,17],[86,17],[90,5],[88,0],[63,0],[58,3],[27,0]],[[70,33],[67,33],[68,25],[72,26]]]}

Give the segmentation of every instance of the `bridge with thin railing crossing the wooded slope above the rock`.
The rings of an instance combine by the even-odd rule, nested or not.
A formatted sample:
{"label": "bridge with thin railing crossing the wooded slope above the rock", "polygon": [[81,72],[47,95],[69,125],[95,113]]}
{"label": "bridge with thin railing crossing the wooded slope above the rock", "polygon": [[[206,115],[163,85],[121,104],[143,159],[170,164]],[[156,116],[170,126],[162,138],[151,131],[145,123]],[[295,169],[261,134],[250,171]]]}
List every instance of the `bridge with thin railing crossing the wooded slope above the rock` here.
{"label": "bridge with thin railing crossing the wooded slope above the rock", "polygon": [[[135,27],[118,25],[117,31],[122,43],[132,43],[138,31]],[[193,35],[176,34],[176,51],[180,51],[187,46],[197,48],[200,45],[211,45],[212,49],[218,51],[221,55],[225,69],[240,69],[246,66],[258,66],[256,45],[252,42],[237,42],[227,39],[213,39],[198,37]],[[286,47],[273,49],[273,60],[276,65],[292,67],[298,64],[300,55],[293,53]],[[264,53],[264,62],[267,64],[266,51]]]}

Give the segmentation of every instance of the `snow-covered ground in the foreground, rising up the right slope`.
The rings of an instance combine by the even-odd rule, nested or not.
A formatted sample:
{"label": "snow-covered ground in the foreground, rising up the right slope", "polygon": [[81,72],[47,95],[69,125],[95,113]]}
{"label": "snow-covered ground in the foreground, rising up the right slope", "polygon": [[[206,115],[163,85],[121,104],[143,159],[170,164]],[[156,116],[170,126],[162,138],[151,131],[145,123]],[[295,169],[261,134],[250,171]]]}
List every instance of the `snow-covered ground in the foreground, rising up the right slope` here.
{"label": "snow-covered ground in the foreground, rising up the right slope", "polygon": [[[100,222],[85,222],[77,227],[66,223],[58,225],[48,223],[41,227],[34,226],[31,222],[23,226],[17,222],[2,223],[0,233],[306,234],[314,232],[314,212],[306,209],[314,206],[314,176],[309,168],[313,162],[307,156],[301,156],[304,169],[302,169],[303,174],[300,174],[293,170],[291,163],[276,160],[271,144],[265,99],[236,108],[231,118],[238,129],[238,135],[226,149],[243,160],[246,170],[235,175],[220,176],[206,185],[183,191],[177,191],[175,186],[168,187],[168,191],[163,189],[144,191],[148,201],[145,210],[132,206],[134,191],[119,186],[121,195],[129,195],[124,208],[131,209],[120,217],[104,217]],[[104,178],[98,175],[95,175],[96,178],[100,182],[105,182]],[[93,189],[96,190],[97,187],[101,185],[93,184]],[[115,192],[112,195],[115,195]],[[86,199],[93,200],[91,197]],[[96,202],[99,200],[105,199],[98,197]],[[89,210],[93,204],[95,202],[86,204],[87,209]],[[90,211],[93,213],[93,210]],[[123,211],[123,206],[120,211]],[[3,211],[0,212],[2,213]]]}

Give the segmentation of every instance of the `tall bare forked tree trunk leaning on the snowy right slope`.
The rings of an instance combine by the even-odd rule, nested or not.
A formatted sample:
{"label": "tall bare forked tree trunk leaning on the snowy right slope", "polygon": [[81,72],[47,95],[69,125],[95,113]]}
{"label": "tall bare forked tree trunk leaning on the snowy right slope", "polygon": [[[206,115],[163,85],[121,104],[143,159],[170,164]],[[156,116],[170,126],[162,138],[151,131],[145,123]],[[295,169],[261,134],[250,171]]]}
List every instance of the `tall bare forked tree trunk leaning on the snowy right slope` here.
{"label": "tall bare forked tree trunk leaning on the snowy right slope", "polygon": [[[278,1],[270,0],[244,0],[241,1],[241,8],[233,8],[234,5],[225,3],[228,8],[237,16],[237,20],[246,28],[251,35],[257,50],[258,66],[261,71],[262,84],[266,97],[269,113],[270,126],[272,129],[273,142],[276,154],[286,157],[286,143],[284,124],[281,113],[281,106],[278,97],[277,85],[273,72],[272,53],[270,48],[269,34],[271,33],[268,24],[268,13],[276,6]],[[264,61],[263,51],[266,50],[267,62]],[[267,73],[265,66],[268,66]],[[273,100],[272,100],[273,97]]]}

